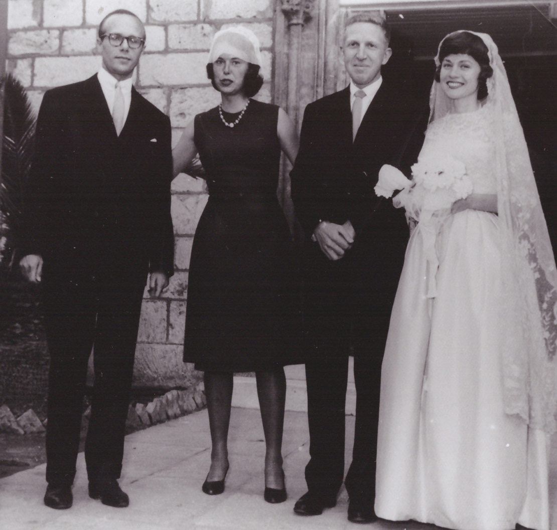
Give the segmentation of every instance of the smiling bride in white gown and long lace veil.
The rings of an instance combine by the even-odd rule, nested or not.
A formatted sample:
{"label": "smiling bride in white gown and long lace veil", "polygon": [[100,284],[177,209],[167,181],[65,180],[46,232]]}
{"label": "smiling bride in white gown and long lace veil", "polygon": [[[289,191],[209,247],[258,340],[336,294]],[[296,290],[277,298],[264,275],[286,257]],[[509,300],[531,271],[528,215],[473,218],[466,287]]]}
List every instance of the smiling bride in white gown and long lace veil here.
{"label": "smiling bride in white gown and long lace veil", "polygon": [[[491,37],[449,34],[436,65],[413,187],[395,197],[418,224],[383,360],[375,512],[458,530],[548,530],[548,230]],[[457,184],[462,198],[437,208]]]}

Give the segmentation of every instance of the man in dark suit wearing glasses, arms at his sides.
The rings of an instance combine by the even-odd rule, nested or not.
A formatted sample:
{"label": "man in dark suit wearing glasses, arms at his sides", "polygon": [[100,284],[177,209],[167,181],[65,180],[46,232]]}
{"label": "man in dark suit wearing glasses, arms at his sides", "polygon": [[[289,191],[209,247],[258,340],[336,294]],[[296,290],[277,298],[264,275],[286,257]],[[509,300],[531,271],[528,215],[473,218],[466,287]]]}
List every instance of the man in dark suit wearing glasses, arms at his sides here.
{"label": "man in dark suit wearing glasses, arms at his sides", "polygon": [[89,495],[129,503],[118,484],[135,343],[148,273],[173,272],[170,121],[131,76],[145,28],[118,10],[99,26],[102,68],[48,90],[38,114],[21,269],[42,282],[50,372],[45,504],[70,508],[87,360],[95,383],[85,445]]}

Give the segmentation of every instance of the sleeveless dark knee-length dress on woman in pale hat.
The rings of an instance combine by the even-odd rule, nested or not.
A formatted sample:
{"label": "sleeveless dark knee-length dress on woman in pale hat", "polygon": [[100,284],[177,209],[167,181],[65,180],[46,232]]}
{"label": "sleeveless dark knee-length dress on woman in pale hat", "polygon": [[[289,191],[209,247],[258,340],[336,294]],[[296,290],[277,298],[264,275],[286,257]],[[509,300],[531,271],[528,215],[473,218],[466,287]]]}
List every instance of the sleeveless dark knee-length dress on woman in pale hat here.
{"label": "sleeveless dark knee-length dress on woman in pale hat", "polygon": [[277,119],[276,105],[256,100],[233,128],[218,107],[194,119],[209,199],[190,259],[184,362],[198,370],[302,362],[294,247],[276,195]]}

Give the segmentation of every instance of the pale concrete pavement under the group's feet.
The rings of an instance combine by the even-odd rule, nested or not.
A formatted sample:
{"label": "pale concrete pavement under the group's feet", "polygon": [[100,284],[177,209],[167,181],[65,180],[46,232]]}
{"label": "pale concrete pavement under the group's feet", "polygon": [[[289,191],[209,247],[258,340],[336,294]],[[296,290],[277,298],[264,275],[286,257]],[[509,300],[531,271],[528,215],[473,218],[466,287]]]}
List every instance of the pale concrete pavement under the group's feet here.
{"label": "pale concrete pavement under the group's feet", "polygon": [[[346,417],[346,455],[351,454],[354,417]],[[557,438],[553,440],[550,481],[557,500]],[[260,413],[233,408],[229,432],[230,470],[226,490],[210,497],[201,491],[209,467],[211,440],[207,411],[199,411],[126,437],[121,486],[130,496],[128,508],[111,508],[87,495],[83,454],[77,462],[69,510],[45,507],[45,465],[0,480],[2,530],[355,530],[346,519],[348,497],[343,488],[335,508],[316,517],[292,512],[305,493],[304,466],[309,434],[305,412],[286,412],[283,455],[289,498],[282,504],[263,500],[265,444]],[[557,530],[557,502],[552,529]],[[370,530],[434,530],[419,523],[379,521]]]}

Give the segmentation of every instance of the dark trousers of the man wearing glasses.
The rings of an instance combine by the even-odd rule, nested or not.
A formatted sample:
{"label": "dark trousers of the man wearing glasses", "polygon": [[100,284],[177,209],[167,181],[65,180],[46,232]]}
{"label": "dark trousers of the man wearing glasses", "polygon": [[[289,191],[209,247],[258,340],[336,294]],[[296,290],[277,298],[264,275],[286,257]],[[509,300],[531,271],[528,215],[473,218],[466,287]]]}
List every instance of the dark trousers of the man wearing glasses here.
{"label": "dark trousers of the man wearing glasses", "polygon": [[120,476],[145,282],[146,274],[72,282],[45,277],[49,484],[74,481],[91,349],[95,383],[85,444],[87,475],[90,481]]}

